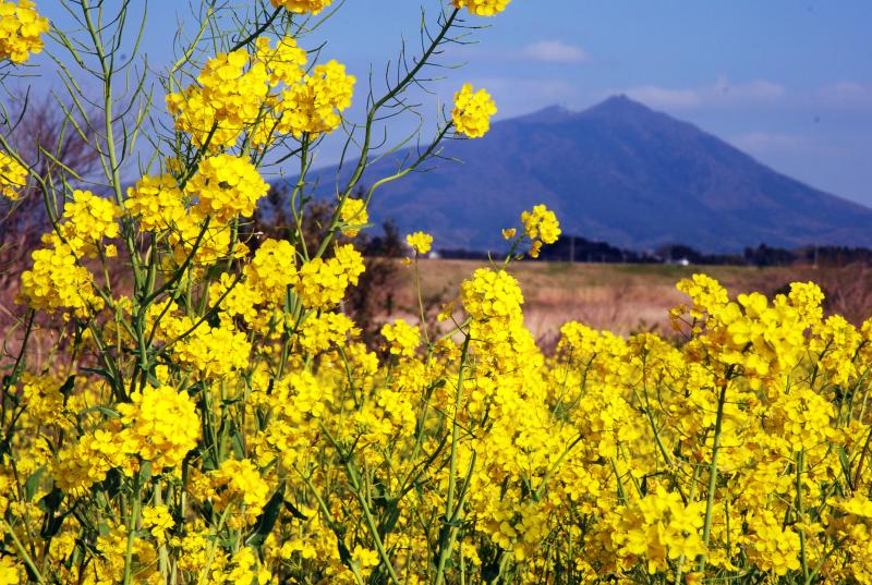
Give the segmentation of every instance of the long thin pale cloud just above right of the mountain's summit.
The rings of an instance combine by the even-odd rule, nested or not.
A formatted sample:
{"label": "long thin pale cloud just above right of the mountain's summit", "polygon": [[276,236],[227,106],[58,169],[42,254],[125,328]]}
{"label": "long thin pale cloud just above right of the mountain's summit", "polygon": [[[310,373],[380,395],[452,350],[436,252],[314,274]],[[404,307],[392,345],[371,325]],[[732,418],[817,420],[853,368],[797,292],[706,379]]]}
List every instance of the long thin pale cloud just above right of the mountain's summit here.
{"label": "long thin pale cloud just above right of the mountain's summit", "polygon": [[700,87],[643,85],[619,93],[627,94],[652,108],[688,110],[712,106],[723,108],[773,103],[780,100],[786,90],[784,86],[765,80],[734,84],[722,75],[714,83]]}

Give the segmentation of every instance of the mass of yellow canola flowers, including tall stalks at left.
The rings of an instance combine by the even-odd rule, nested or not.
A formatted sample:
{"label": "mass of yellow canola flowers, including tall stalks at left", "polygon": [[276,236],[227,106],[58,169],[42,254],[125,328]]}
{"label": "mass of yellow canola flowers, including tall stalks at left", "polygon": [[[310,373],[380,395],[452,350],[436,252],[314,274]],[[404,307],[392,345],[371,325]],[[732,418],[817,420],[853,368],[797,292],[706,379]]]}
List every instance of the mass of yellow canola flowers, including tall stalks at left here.
{"label": "mass of yellow canola flowers, including tall stalks at left", "polygon": [[[536,206],[439,333],[399,319],[360,341],[342,298],[371,198],[496,107],[462,85],[420,158],[353,196],[375,122],[509,0],[444,7],[356,124],[356,80],[305,47],[341,5],[204,3],[162,80],[170,127],[122,58],[130,4],[61,1],[78,29],[0,0],[4,87],[45,50],[66,131],[85,100],[102,124],[96,181],[0,136],[0,193],[41,197],[51,222],[0,362],[0,584],[872,583],[872,320],[824,318],[815,284],[734,300],[697,275],[670,313],[681,342],[569,322],[545,355],[506,270],[559,236]],[[335,131],[354,172],[312,245],[306,171]],[[144,134],[154,156],[122,188]],[[247,237],[281,163],[299,166],[295,226]],[[432,239],[408,243],[417,281]]]}

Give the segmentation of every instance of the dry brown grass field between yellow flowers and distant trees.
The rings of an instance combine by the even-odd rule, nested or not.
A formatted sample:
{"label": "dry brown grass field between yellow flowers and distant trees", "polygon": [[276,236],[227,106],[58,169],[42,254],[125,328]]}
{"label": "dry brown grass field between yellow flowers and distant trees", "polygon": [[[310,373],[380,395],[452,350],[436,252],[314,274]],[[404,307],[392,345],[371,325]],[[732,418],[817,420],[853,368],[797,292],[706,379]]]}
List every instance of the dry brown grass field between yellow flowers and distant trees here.
{"label": "dry brown grass field between yellow flowers and distant trees", "polygon": [[[476,260],[422,260],[425,304],[438,307],[456,300],[460,282],[487,263]],[[416,307],[414,272],[403,267],[396,291],[399,313]],[[669,331],[669,308],[686,301],[676,283],[704,272],[727,287],[730,295],[759,291],[768,296],[795,281],[814,281],[827,295],[825,308],[859,325],[872,316],[872,270],[864,266],[843,268],[737,266],[604,265],[567,263],[516,263],[510,271],[524,293],[528,327],[550,341],[560,325],[579,320],[617,333]]]}

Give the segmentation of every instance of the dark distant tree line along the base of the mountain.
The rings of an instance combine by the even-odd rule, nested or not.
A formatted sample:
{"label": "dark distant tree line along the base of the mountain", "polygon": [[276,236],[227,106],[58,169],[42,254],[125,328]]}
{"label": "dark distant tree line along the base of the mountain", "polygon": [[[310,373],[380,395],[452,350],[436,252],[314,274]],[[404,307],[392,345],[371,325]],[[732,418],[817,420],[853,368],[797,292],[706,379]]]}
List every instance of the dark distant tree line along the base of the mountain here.
{"label": "dark distant tree line along the base of the mountain", "polygon": [[[441,258],[487,259],[479,251],[439,249]],[[498,256],[498,255],[497,255]],[[634,251],[581,236],[564,235],[543,248],[540,261],[603,264],[694,264],[704,266],[848,266],[872,265],[872,249],[848,246],[802,246],[783,248],[760,244],[739,254],[706,254],[685,244],[667,244],[653,251]]]}

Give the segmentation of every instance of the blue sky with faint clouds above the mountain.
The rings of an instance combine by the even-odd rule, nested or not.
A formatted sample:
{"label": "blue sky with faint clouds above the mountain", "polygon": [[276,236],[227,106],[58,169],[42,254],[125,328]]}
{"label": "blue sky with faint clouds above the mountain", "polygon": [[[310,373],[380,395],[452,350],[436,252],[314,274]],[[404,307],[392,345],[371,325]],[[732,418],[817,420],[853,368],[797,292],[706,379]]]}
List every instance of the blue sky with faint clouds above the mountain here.
{"label": "blue sky with faint clouds above the mountain", "polygon": [[[39,7],[68,25],[57,4]],[[440,5],[347,0],[318,34],[329,41],[323,54],[358,75],[361,98],[370,65],[380,71],[401,36],[416,41],[421,4],[431,13]],[[180,5],[150,2],[144,48],[153,64],[171,60],[168,23]],[[872,2],[513,0],[498,17],[468,23],[489,27],[445,56],[468,65],[444,72],[443,100],[469,81],[487,87],[498,118],[509,118],[626,93],[778,171],[872,206]],[[424,110],[436,103],[427,99]],[[328,145],[322,161],[331,156]]]}

